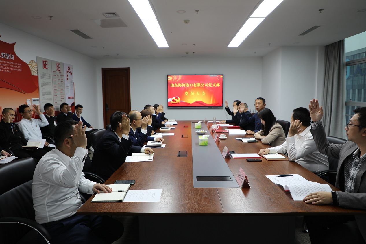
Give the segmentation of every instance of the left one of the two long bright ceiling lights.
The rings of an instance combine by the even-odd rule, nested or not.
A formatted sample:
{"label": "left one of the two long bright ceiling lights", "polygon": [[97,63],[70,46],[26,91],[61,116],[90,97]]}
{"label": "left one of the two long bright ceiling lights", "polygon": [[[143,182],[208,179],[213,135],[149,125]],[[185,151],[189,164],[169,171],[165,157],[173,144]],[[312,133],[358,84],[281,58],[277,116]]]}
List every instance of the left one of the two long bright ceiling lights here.
{"label": "left one of the two long bright ceiling lights", "polygon": [[148,0],[128,0],[159,48],[168,48],[167,40]]}

